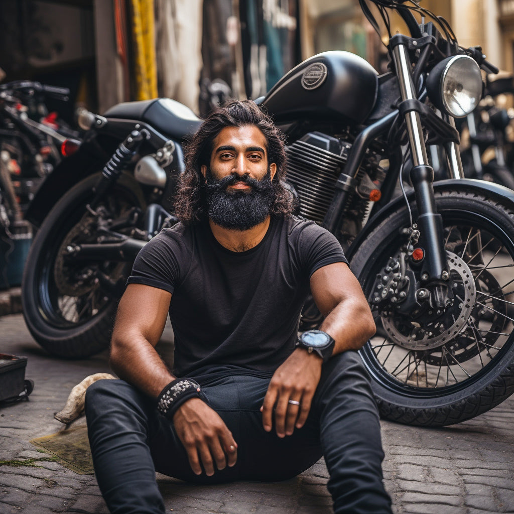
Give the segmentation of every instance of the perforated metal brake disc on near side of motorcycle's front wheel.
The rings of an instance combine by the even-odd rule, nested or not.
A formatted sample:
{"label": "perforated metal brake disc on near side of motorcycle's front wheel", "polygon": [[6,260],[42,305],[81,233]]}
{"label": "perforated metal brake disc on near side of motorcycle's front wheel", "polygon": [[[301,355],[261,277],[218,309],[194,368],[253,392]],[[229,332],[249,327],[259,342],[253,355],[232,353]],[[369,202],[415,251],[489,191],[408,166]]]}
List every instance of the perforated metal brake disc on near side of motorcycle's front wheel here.
{"label": "perforated metal brake disc on near side of motorcycle's front wheel", "polygon": [[455,253],[447,251],[454,299],[440,314],[424,323],[395,311],[381,314],[389,339],[408,350],[431,350],[454,339],[466,326],[476,301],[476,287],[468,265]]}

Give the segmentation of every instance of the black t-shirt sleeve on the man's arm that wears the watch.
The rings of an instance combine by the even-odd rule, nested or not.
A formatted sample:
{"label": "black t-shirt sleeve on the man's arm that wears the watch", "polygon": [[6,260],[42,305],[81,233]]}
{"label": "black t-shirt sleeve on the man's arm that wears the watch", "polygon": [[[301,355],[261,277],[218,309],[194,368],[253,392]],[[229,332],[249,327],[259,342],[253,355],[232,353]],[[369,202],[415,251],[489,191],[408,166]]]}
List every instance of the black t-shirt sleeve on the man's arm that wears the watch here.
{"label": "black t-shirt sleeve on the man's arm that wears the watch", "polygon": [[310,278],[312,274],[328,264],[348,264],[339,241],[328,230],[306,222],[298,234],[298,249],[302,268]]}

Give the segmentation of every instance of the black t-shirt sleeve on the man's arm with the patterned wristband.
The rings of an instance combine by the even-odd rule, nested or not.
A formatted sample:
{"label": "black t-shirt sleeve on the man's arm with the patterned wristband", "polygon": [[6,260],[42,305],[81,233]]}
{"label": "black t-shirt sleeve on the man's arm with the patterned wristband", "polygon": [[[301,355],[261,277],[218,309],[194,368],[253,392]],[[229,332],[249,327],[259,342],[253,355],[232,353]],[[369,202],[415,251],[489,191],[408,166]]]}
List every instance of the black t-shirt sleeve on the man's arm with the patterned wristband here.
{"label": "black t-shirt sleeve on the man's arm with the patterned wristband", "polygon": [[137,254],[127,285],[143,284],[173,294],[180,280],[179,262],[182,250],[175,238],[161,232]]}

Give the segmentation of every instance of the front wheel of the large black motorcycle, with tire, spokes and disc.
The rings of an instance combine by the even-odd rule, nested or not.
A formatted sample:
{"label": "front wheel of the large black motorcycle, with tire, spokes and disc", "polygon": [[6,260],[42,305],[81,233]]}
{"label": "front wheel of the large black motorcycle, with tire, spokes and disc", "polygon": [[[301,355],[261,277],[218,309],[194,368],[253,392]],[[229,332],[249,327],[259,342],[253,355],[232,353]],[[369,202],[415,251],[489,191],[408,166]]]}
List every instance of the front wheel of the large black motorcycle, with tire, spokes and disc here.
{"label": "front wheel of the large black motorcycle, with tire, spokes and disc", "polygon": [[[379,279],[386,272],[389,258],[408,239],[401,231],[410,226],[406,206],[375,222],[351,259],[377,324],[376,335],[360,355],[380,415],[427,427],[473,418],[514,393],[512,206],[455,189],[436,193],[435,200],[452,261],[448,283],[455,298],[442,315],[416,321],[398,314],[398,306],[384,309],[375,303],[380,302],[376,291],[383,287],[377,274]],[[411,209],[415,216],[413,204]],[[464,324],[457,323],[458,316]]]}

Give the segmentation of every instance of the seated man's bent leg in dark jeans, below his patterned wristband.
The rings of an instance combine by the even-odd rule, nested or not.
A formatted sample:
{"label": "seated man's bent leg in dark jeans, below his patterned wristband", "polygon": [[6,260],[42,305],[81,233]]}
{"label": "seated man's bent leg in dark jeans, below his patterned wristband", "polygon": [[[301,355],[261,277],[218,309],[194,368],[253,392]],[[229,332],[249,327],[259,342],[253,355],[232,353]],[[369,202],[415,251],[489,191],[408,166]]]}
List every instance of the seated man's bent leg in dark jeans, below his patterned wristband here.
{"label": "seated man's bent leg in dark jeans, below his patterned wristband", "polygon": [[115,514],[163,514],[148,446],[159,423],[152,402],[122,380],[99,380],[86,393],[87,431],[102,495]]}

